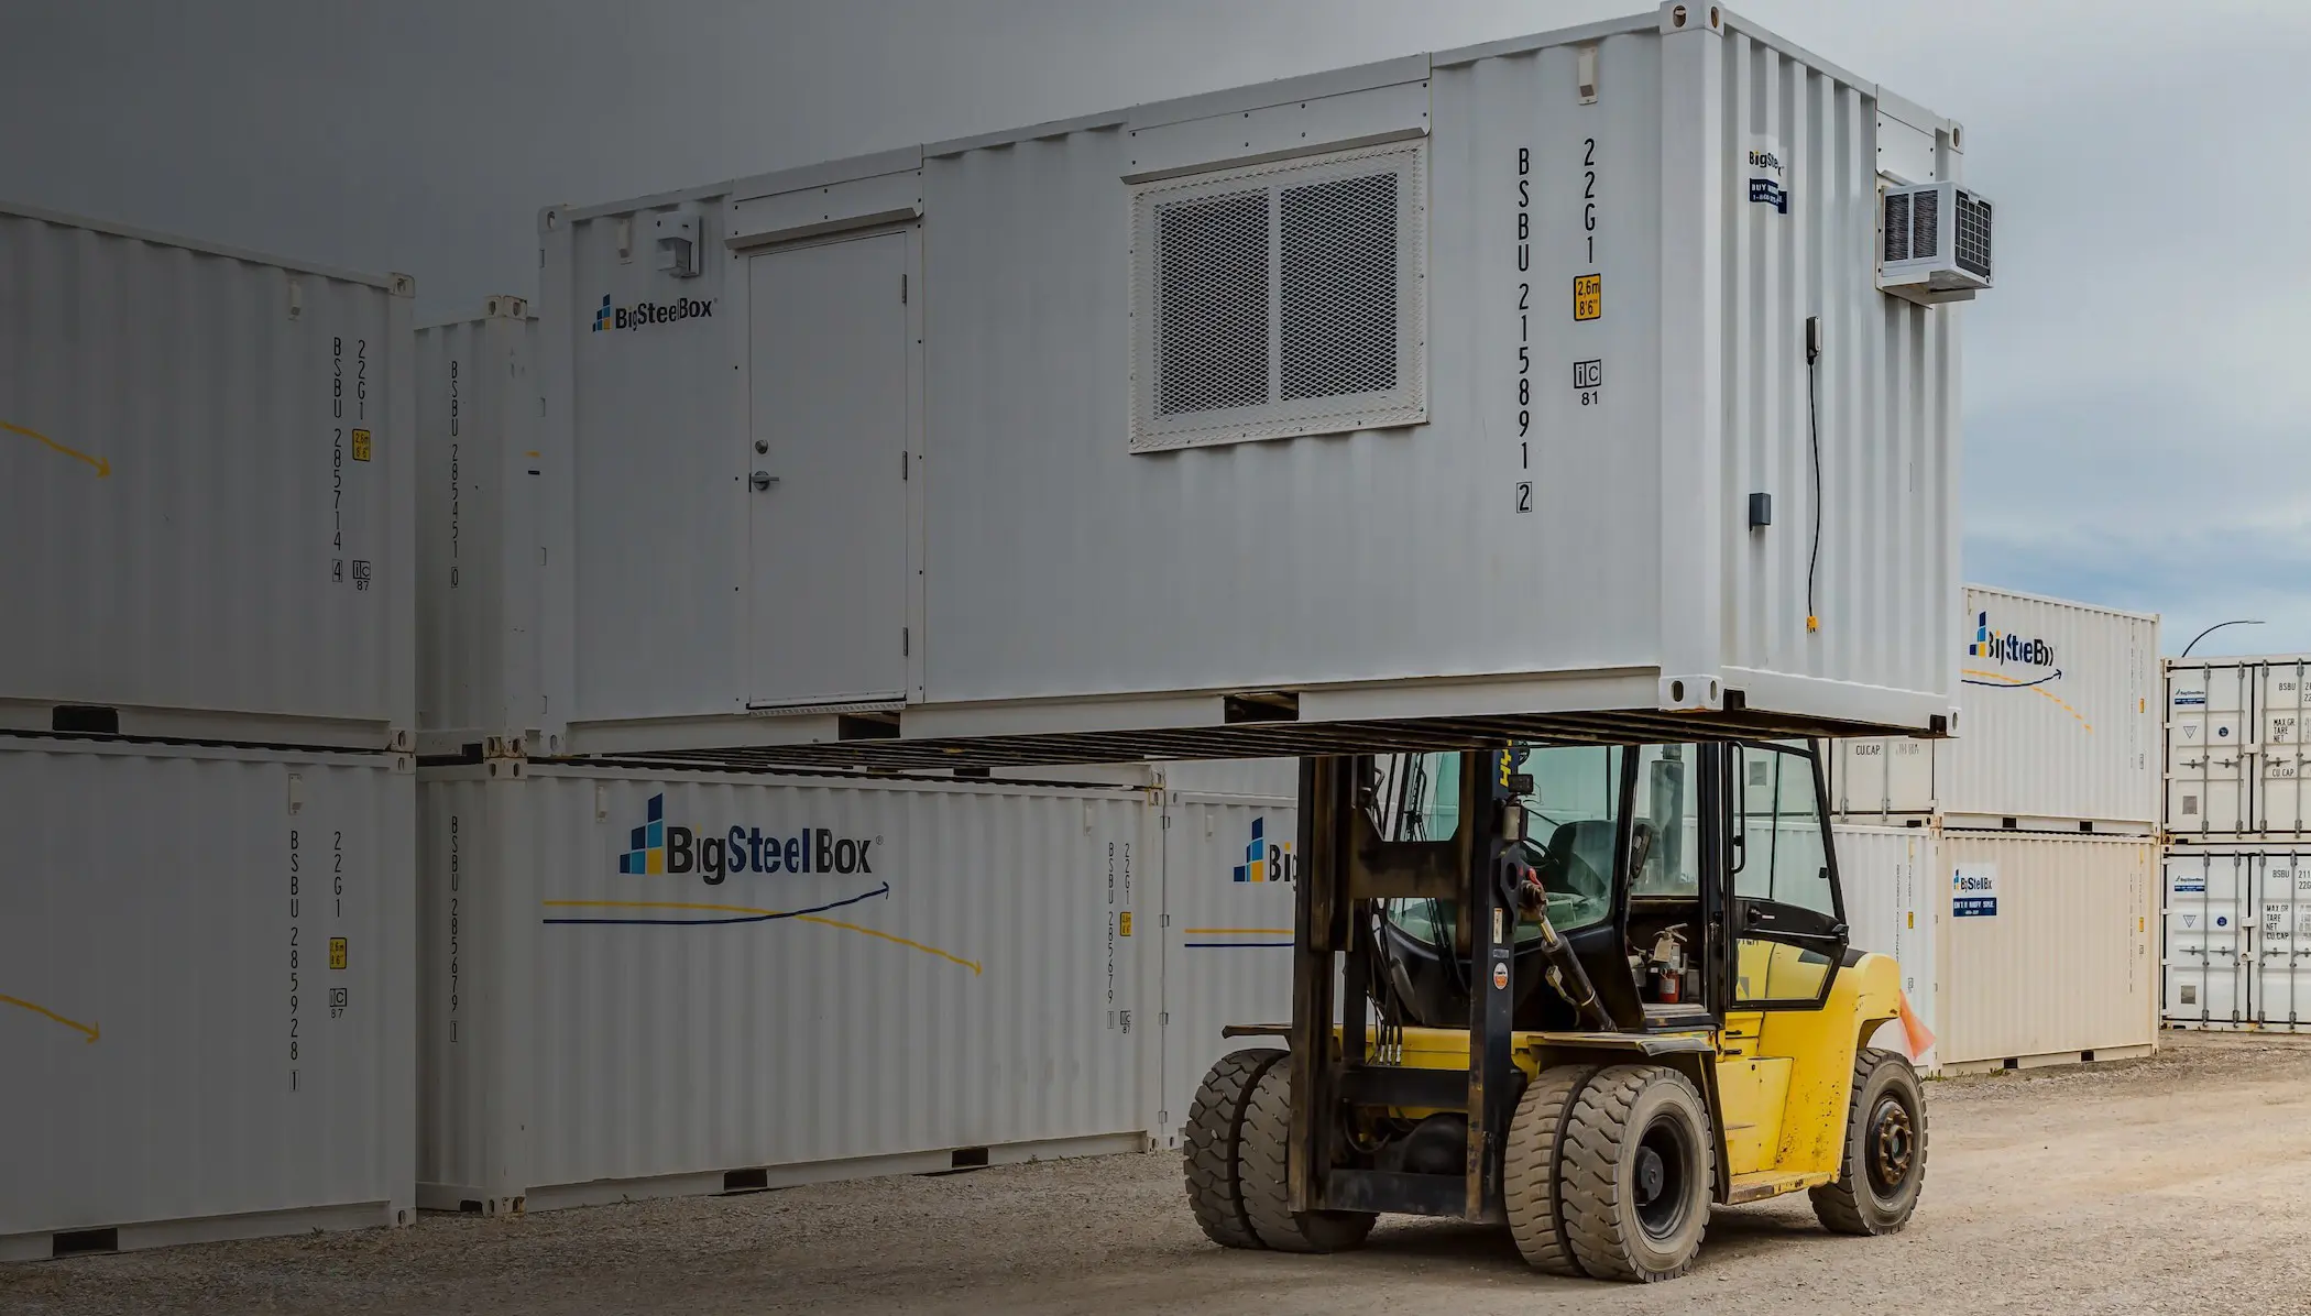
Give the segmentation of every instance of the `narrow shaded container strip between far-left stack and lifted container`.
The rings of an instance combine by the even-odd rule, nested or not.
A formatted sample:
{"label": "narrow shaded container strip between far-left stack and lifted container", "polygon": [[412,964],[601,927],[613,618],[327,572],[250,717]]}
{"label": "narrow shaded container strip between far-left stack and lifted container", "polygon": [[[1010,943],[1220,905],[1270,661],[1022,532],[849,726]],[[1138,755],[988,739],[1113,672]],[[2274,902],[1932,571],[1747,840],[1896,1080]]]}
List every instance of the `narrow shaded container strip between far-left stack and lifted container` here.
{"label": "narrow shaded container strip between far-left stack and lifted container", "polygon": [[418,750],[548,739],[536,321],[520,298],[416,335]]}

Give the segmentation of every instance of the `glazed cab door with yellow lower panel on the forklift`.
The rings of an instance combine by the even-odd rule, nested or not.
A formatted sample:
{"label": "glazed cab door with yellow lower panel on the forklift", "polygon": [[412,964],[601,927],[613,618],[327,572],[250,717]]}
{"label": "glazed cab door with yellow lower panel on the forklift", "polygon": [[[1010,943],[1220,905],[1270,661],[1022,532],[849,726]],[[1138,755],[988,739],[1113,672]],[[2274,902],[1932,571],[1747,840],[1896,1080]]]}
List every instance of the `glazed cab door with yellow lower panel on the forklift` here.
{"label": "glazed cab door with yellow lower panel on the forklift", "polygon": [[1819,762],[1796,746],[1733,746],[1729,760],[1731,1009],[1816,1007],[1846,954]]}

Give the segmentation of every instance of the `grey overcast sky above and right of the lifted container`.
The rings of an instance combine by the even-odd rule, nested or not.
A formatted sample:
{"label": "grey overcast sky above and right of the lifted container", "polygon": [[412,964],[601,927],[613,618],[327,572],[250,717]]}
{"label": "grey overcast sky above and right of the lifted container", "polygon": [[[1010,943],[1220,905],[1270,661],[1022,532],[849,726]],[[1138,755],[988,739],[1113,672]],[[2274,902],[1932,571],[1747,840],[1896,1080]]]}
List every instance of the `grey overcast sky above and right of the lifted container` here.
{"label": "grey overcast sky above and right of the lifted container", "polygon": [[[536,210],[1537,32],[1636,0],[0,0],[0,194],[536,291]],[[1967,125],[1967,577],[2311,649],[2311,5],[1756,0]]]}

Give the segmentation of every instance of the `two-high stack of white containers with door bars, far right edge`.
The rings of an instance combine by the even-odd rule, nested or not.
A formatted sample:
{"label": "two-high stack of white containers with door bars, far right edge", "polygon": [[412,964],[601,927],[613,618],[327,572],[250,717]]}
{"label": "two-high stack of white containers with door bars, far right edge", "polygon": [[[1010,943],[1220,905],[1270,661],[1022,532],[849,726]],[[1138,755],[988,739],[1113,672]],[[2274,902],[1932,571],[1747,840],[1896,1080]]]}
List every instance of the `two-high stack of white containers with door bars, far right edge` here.
{"label": "two-high stack of white containers with door bars, far right edge", "polygon": [[2175,1027],[2311,1025],[2306,676],[2302,653],[2168,663],[2163,1016]]}

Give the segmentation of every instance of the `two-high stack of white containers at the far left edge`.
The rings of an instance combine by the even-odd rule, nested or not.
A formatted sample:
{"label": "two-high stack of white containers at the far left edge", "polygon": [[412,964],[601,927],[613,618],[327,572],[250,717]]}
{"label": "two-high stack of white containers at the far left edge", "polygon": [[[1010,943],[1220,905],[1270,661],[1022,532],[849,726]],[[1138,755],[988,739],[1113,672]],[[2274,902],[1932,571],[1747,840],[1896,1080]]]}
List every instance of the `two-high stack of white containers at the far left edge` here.
{"label": "two-high stack of white containers at the far left edge", "polygon": [[411,291],[0,205],[5,1258],[414,1217]]}

